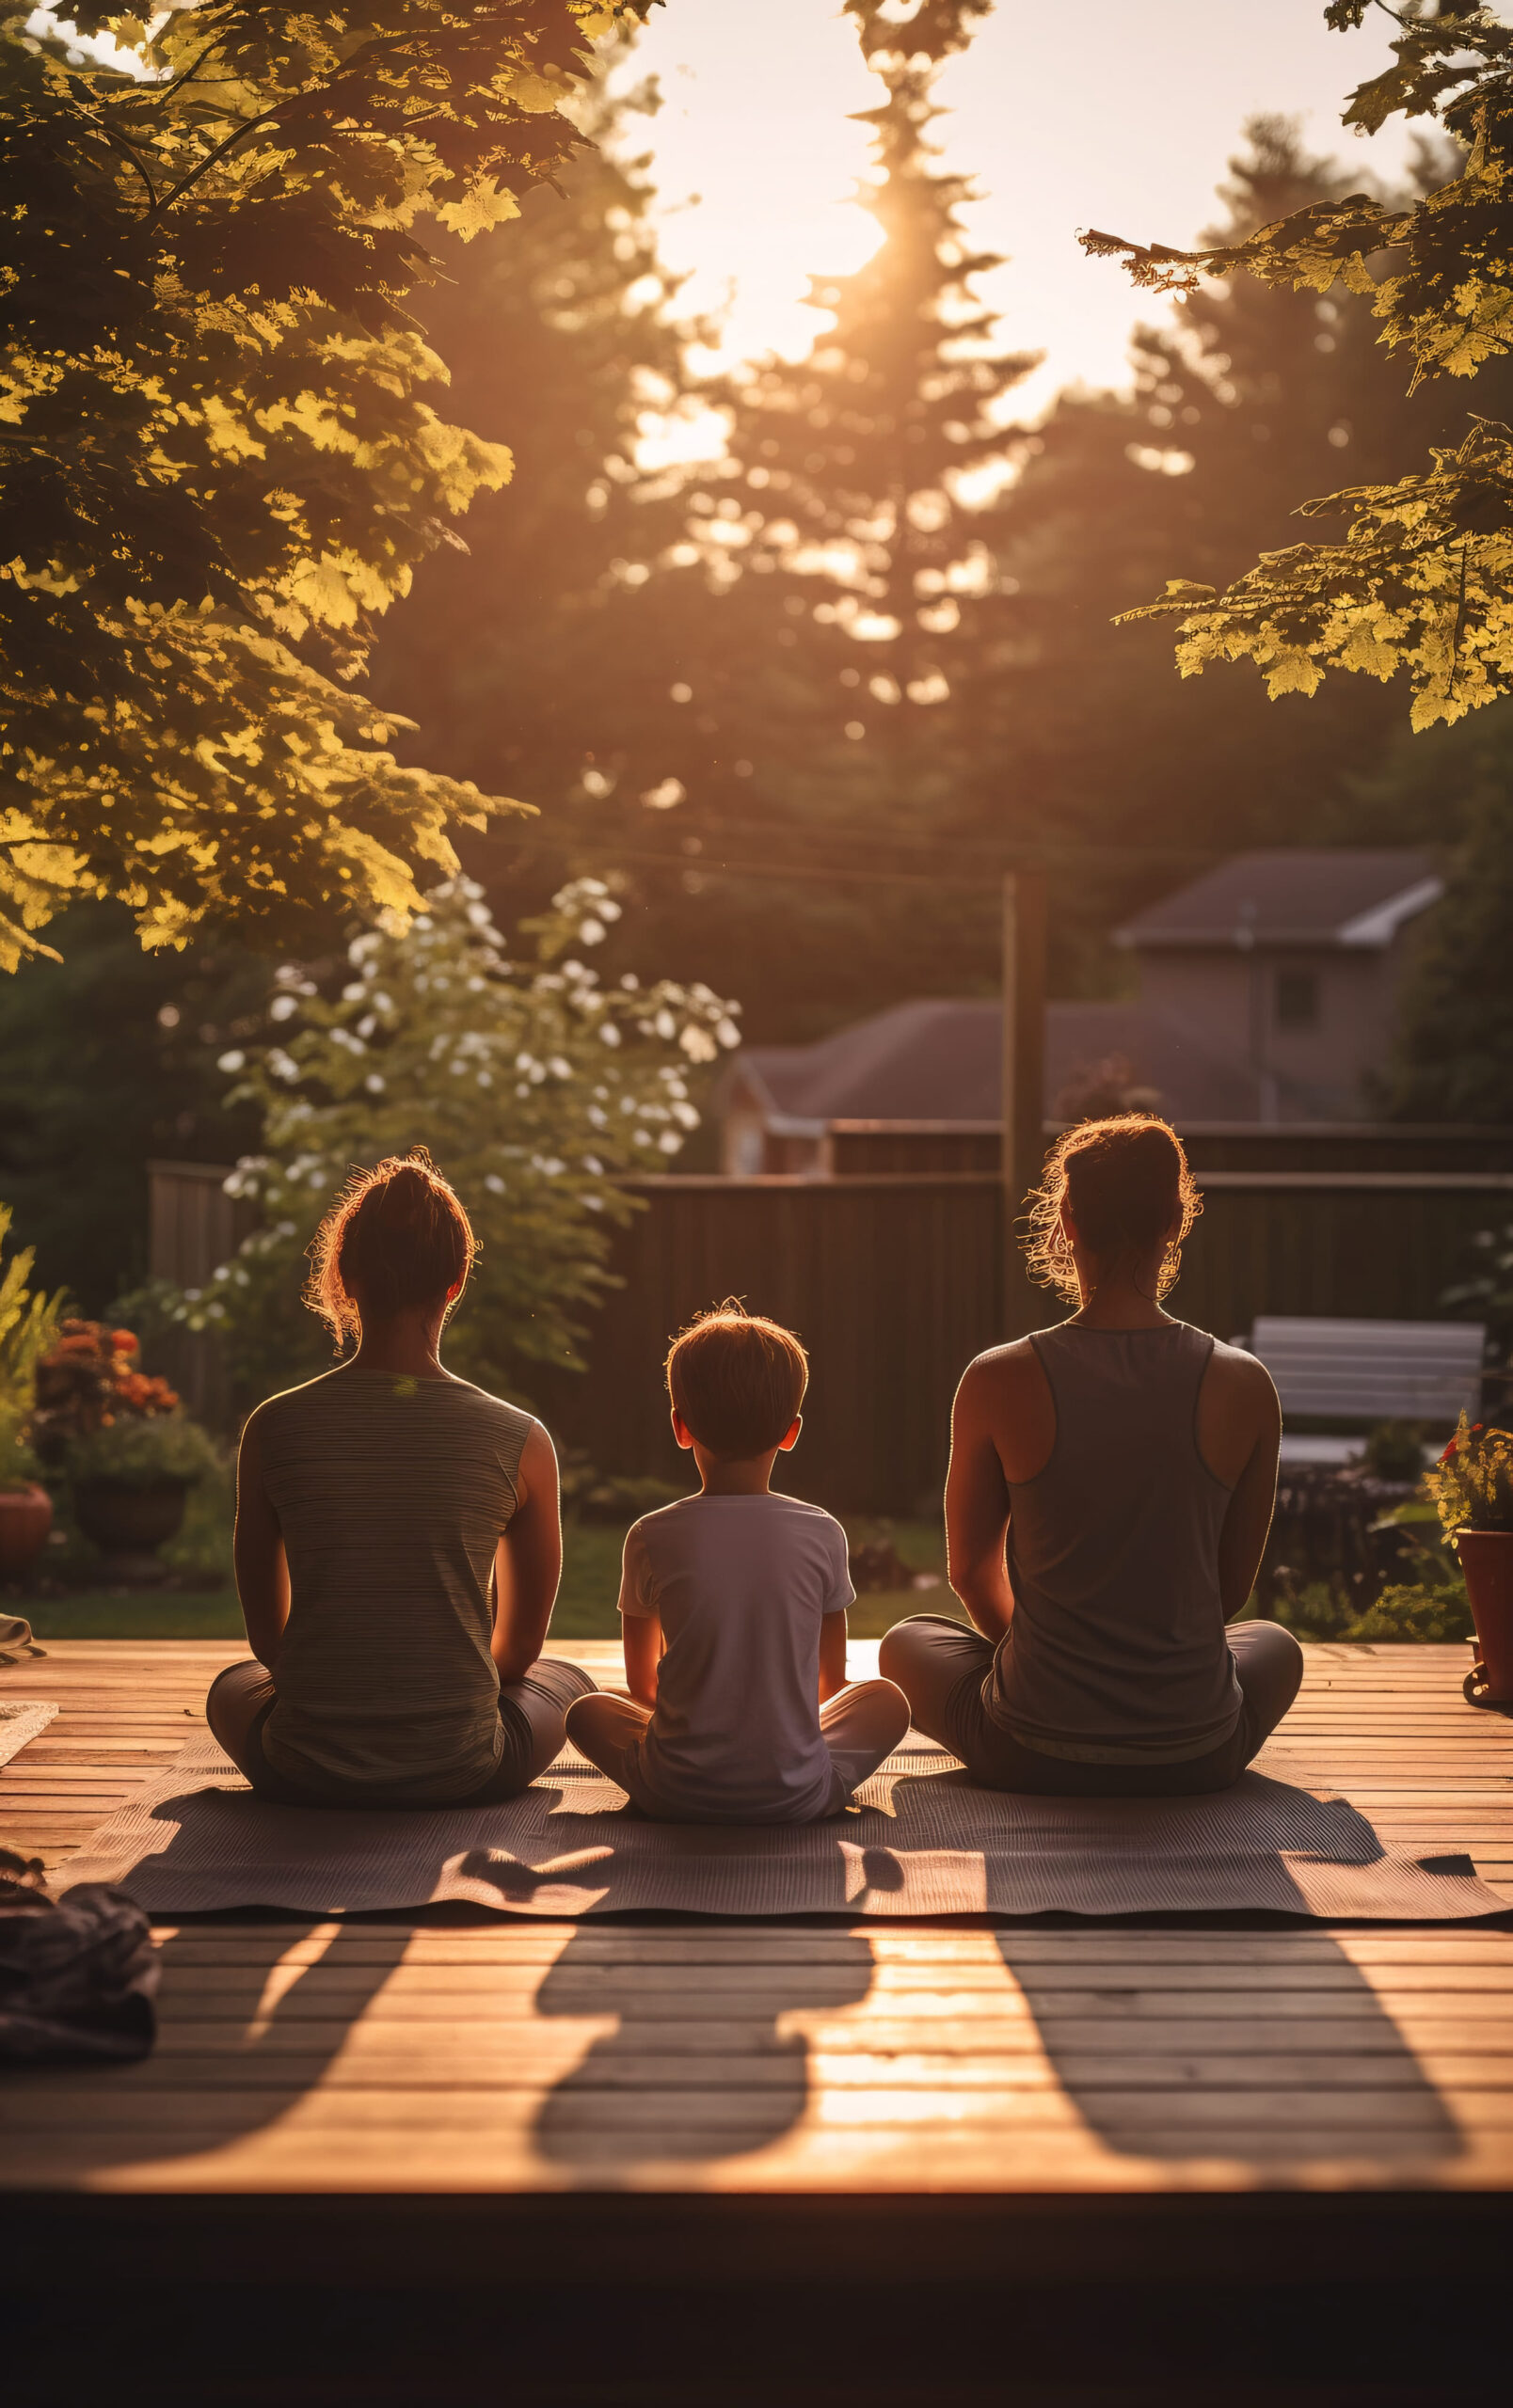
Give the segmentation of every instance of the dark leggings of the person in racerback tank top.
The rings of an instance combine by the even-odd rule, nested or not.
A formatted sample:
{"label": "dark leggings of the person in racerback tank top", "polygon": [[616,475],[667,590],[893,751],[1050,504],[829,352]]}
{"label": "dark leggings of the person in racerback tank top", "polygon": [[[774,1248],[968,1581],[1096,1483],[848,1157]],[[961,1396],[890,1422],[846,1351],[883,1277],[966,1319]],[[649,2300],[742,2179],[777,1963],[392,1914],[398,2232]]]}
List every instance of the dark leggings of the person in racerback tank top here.
{"label": "dark leggings of the person in racerback tank top", "polygon": [[985,1705],[993,1642],[944,1613],[894,1623],[877,1662],[908,1698],[916,1731],[959,1755],[983,1789],[1034,1796],[1195,1796],[1229,1789],[1272,1736],[1303,1678],[1303,1649],[1282,1623],[1234,1623],[1226,1633],[1241,1683],[1241,1719],[1207,1755],[1183,1765],[1094,1765],[1075,1755],[1038,1755],[1019,1746]]}

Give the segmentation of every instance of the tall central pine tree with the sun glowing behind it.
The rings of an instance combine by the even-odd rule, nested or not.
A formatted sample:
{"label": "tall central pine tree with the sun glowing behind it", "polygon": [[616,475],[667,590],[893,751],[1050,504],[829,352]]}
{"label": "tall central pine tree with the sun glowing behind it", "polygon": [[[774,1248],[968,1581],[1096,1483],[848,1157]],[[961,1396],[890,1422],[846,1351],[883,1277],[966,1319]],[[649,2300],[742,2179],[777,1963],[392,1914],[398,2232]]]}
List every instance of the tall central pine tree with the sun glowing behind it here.
{"label": "tall central pine tree with the sun glowing behind it", "polygon": [[[901,26],[879,0],[850,0],[884,87],[860,195],[884,241],[853,275],[812,282],[834,325],[802,361],[769,359],[723,388],[728,448],[687,496],[682,551],[718,607],[701,583],[643,590],[665,645],[658,686],[687,696],[687,799],[648,814],[624,790],[597,821],[667,857],[665,877],[626,869],[663,956],[735,987],[761,1038],[997,975],[990,872],[959,893],[903,884],[961,824],[993,742],[997,515],[964,482],[1007,455],[1002,400],[1031,366],[993,344],[973,294],[993,258],[969,248],[969,181],[930,140],[940,65],[983,12],[930,0]],[[742,879],[725,862],[812,877]]]}

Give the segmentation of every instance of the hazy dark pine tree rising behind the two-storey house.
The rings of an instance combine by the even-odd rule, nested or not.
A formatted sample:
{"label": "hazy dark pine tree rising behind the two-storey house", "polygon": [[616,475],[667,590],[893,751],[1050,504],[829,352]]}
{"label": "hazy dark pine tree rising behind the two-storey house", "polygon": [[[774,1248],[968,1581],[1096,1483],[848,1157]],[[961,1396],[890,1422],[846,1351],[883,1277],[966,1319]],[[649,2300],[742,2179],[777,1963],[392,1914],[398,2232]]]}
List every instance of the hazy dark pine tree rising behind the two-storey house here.
{"label": "hazy dark pine tree rising behind the two-storey house", "polygon": [[[1426,159],[1424,176],[1436,171]],[[1217,238],[1238,246],[1344,181],[1287,120],[1253,120]],[[1034,797],[1043,833],[1084,848],[1053,915],[1058,975],[1084,987],[1108,975],[1108,922],[1214,852],[1446,833],[1441,795],[1431,828],[1373,836],[1359,780],[1402,715],[1373,679],[1272,710],[1258,684],[1178,679],[1161,628],[1113,621],[1166,573],[1221,585],[1291,542],[1299,491],[1342,462],[1395,477],[1426,443],[1453,441],[1462,395],[1409,397],[1383,378],[1368,296],[1246,272],[1193,291],[1176,325],[1142,327],[1132,368],[1130,397],[1062,395],[1026,443],[1000,561],[1017,588],[1000,667],[1009,783]],[[1508,407],[1513,373],[1489,376]]]}

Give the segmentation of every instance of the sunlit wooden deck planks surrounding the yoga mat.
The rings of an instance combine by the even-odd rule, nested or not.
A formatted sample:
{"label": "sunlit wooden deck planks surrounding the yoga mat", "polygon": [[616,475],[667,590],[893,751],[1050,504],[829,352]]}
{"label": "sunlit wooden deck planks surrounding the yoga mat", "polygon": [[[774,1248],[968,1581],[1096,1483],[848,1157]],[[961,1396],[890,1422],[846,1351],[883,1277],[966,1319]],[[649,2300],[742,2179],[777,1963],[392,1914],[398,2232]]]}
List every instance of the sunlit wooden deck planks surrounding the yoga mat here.
{"label": "sunlit wooden deck planks surrounding the yoga mat", "polygon": [[[246,1649],[82,1640],[0,1767],[60,1864]],[[607,1647],[564,1647],[610,1681]],[[1513,1719],[1465,1649],[1313,1647],[1277,1767],[1513,1902]],[[870,1671],[872,1647],[853,1652]],[[152,2191],[1152,2191],[1513,2184],[1513,1929],[508,1924],[157,1929],[142,2066],[0,2090],[0,2184]]]}

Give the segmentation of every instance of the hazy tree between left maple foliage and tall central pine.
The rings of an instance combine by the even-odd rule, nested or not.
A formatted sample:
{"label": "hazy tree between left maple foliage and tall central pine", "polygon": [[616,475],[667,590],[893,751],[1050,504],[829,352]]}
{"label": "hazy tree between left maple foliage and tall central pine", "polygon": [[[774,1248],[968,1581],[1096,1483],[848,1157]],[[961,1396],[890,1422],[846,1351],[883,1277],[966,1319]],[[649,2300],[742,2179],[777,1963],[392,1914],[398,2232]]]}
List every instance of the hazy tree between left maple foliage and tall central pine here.
{"label": "hazy tree between left maple foliage and tall central pine", "polygon": [[[667,677],[648,674],[643,588],[684,532],[682,479],[648,474],[638,443],[689,378],[653,193],[624,157],[626,120],[655,106],[648,87],[610,104],[600,82],[583,111],[595,147],[528,195],[516,224],[451,246],[422,303],[453,405],[508,443],[516,477],[475,506],[465,549],[417,573],[412,607],[383,631],[376,691],[426,718],[429,756],[451,775],[508,787],[554,840],[569,807],[672,775],[677,713]],[[537,831],[518,833],[472,852],[494,881],[508,864],[516,903],[561,884],[561,855],[537,860]]]}

